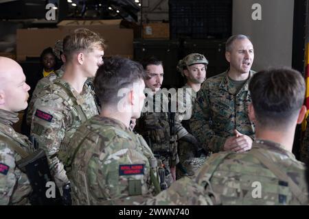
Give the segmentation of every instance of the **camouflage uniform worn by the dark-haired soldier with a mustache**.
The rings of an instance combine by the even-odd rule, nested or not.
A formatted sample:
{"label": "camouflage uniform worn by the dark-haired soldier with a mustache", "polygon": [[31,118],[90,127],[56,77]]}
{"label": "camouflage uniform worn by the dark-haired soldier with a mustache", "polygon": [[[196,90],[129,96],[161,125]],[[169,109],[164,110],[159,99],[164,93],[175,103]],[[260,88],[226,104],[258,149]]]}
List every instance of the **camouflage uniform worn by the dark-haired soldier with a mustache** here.
{"label": "camouflage uniform worn by the dark-haired soldier with a mustache", "polygon": [[[155,99],[156,96],[161,95],[161,104],[158,106]],[[170,123],[169,123],[169,113],[168,109],[165,109],[163,103],[168,103],[169,99],[165,94],[160,91],[156,92],[154,95],[149,95],[146,97],[145,105],[141,113],[141,117],[137,120],[137,125],[135,126],[135,130],[137,133],[141,134],[144,137],[150,149],[158,158],[159,166],[165,166],[167,172],[170,167],[176,166],[179,163],[179,156],[177,153],[176,144],[171,144],[171,142],[176,142],[176,140],[182,138],[187,135],[187,130],[183,128],[180,121],[175,116],[174,130],[176,133],[176,139],[173,139],[174,136],[170,135]],[[151,103],[153,105],[151,105]],[[153,110],[150,108],[153,107]],[[157,118],[159,118],[159,123],[153,124],[155,129],[146,129],[145,120],[151,114],[155,114]],[[169,187],[172,183],[172,175],[166,175],[165,182]],[[161,181],[161,183],[163,183]]]}

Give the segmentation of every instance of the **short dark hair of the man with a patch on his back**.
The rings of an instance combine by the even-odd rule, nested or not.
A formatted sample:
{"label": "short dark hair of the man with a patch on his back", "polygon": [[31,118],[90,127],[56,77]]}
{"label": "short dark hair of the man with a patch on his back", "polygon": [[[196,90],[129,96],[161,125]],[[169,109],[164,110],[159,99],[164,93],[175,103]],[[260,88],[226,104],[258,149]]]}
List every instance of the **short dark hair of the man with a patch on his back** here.
{"label": "short dark hair of the man with a patch on his back", "polygon": [[115,56],[104,59],[94,79],[95,94],[104,106],[118,103],[123,96],[117,96],[122,88],[132,88],[139,79],[144,80],[145,73],[141,64],[127,58]]}

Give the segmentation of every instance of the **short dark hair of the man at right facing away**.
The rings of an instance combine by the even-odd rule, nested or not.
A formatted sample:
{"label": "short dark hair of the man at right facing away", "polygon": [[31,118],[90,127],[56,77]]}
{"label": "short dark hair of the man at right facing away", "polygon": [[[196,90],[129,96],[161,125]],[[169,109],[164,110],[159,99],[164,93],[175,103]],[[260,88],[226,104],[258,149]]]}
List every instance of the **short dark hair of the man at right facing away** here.
{"label": "short dark hair of the man at right facing away", "polygon": [[285,129],[304,103],[304,77],[291,68],[269,68],[253,75],[249,90],[255,118],[263,127]]}

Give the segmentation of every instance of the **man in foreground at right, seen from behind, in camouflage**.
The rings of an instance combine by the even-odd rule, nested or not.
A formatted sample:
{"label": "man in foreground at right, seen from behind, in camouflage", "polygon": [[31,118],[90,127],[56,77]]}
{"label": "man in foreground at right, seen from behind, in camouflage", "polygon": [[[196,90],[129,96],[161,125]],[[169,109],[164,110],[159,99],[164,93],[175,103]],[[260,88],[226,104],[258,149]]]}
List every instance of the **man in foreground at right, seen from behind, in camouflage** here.
{"label": "man in foreground at right, seen from behind, in camouflage", "polygon": [[304,78],[290,68],[262,70],[253,75],[249,90],[249,117],[256,125],[252,149],[211,155],[194,181],[183,183],[183,191],[164,191],[149,205],[163,203],[162,197],[179,204],[176,194],[185,196],[192,188],[205,189],[196,198],[208,200],[211,192],[222,205],[308,205],[306,167],[292,153],[296,125],[306,114]]}

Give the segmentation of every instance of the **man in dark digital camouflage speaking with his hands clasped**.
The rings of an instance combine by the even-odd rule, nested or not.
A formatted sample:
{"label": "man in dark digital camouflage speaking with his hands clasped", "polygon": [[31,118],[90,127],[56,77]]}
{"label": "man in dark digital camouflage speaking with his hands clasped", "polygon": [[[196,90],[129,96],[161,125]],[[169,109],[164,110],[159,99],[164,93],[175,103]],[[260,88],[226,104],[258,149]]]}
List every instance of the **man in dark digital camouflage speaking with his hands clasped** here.
{"label": "man in dark digital camouflage speaking with his hands clasped", "polygon": [[229,69],[210,77],[197,93],[190,120],[194,136],[212,152],[251,149],[254,124],[248,116],[253,45],[244,35],[231,36],[225,45]]}

